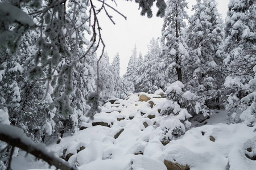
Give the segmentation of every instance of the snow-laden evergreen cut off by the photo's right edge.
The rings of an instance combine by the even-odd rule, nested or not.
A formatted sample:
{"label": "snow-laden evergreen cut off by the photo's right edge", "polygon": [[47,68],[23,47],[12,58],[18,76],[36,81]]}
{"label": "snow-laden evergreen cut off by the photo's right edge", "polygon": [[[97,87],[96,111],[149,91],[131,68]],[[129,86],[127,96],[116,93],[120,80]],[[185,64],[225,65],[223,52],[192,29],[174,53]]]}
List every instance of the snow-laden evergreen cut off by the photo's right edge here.
{"label": "snow-laden evergreen cut off by the photo's right edge", "polygon": [[[228,71],[224,87],[228,95],[226,110],[230,112],[230,119],[237,108],[244,111],[241,119],[247,125],[253,126],[254,85],[253,77],[256,65],[255,56],[255,1],[230,1],[226,16],[224,49],[226,58],[224,63]],[[251,82],[251,83],[250,83]],[[253,108],[253,107],[251,107]],[[246,114],[245,114],[246,113]]]}

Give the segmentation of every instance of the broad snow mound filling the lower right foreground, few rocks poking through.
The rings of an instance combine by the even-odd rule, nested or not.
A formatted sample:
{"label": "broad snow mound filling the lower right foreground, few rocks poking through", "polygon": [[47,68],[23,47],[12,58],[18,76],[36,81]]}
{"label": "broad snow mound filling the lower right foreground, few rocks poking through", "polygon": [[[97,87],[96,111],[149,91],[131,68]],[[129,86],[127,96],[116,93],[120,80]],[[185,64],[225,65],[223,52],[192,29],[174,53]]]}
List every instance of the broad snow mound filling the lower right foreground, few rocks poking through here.
{"label": "broad snow mound filling the lower right foreground, few rocks poking through", "polygon": [[[226,169],[228,166],[237,170],[254,169],[256,163],[245,156],[245,148],[251,146],[245,146],[246,142],[256,136],[253,130],[244,124],[192,128],[182,138],[171,141],[159,159],[188,165],[191,170]],[[210,136],[216,141],[210,141]]]}

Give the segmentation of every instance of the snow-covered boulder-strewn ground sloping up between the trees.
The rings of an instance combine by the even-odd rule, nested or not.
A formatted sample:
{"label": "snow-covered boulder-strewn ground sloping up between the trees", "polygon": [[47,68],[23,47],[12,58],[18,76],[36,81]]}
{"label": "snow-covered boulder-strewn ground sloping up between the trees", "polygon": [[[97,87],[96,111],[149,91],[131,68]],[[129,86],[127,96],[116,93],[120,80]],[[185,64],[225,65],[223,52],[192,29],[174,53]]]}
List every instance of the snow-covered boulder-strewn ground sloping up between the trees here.
{"label": "snow-covered boulder-strewn ground sloping up between the trees", "polygon": [[[159,124],[168,117],[160,116],[159,109],[166,99],[144,95],[151,99],[138,101],[138,94],[134,94],[114,104],[106,103],[93,121],[84,123],[86,129],[62,138],[59,144],[49,144],[48,149],[80,170],[166,170],[164,163],[170,162],[197,170],[256,169],[256,160],[251,160],[256,155],[255,127],[227,125],[227,113],[216,111],[201,123],[192,120],[190,130],[163,145],[163,129]],[[95,126],[95,122],[105,126]],[[21,151],[13,159],[12,168],[47,169],[49,166]]]}

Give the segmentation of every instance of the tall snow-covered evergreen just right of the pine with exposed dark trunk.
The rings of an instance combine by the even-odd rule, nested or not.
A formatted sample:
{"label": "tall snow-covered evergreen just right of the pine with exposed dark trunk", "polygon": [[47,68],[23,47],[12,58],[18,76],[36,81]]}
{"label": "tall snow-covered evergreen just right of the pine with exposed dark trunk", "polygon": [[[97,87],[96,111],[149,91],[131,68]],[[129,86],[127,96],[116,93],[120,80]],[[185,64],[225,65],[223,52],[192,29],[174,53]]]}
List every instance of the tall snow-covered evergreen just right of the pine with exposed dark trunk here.
{"label": "tall snow-covered evergreen just right of the pine with exposed dark trunk", "polygon": [[218,90],[221,88],[223,54],[222,22],[215,1],[197,0],[193,6],[195,14],[189,19],[187,44],[190,48],[187,88],[201,96],[202,104],[218,107]]}

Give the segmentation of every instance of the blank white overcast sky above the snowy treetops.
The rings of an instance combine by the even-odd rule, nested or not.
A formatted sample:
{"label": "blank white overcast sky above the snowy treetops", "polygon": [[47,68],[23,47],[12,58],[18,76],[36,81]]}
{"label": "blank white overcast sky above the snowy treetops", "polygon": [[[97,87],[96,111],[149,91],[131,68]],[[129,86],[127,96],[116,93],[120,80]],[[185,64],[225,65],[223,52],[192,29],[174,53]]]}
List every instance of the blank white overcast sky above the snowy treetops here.
{"label": "blank white overcast sky above the snowy treetops", "polygon": [[[229,0],[216,1],[218,3],[218,11],[222,15],[222,18],[225,19]],[[115,7],[112,2],[106,2]],[[109,8],[108,12],[110,15],[113,15],[115,25],[104,16],[105,12],[102,11],[100,26],[102,28],[102,38],[106,45],[105,51],[108,52],[110,63],[113,61],[115,54],[117,52],[119,53],[121,65],[120,75],[122,76],[126,72],[134,45],[136,44],[137,46],[137,55],[141,52],[144,57],[147,53],[147,45],[150,43],[152,37],[161,36],[163,19],[155,16],[157,11],[155,4],[153,8],[154,16],[148,19],[147,16],[140,15],[141,10],[138,10],[138,4],[134,1],[116,0],[116,2],[118,6],[115,8],[125,15],[127,20]],[[196,0],[189,0],[187,2],[189,8],[191,8],[196,3]],[[192,15],[193,12],[188,10],[188,14]]]}

